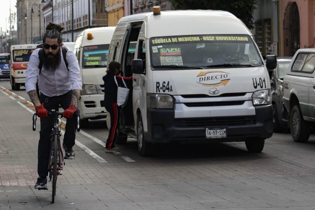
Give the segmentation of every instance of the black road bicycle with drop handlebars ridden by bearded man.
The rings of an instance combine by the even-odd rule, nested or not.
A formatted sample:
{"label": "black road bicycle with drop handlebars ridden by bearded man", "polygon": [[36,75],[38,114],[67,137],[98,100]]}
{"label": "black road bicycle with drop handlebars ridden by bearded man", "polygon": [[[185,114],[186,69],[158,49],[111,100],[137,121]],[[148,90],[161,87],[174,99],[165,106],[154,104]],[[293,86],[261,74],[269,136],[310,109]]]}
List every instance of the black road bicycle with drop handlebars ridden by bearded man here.
{"label": "black road bicycle with drop handlebars ridden by bearded man", "polygon": [[[61,147],[60,139],[61,139],[61,125],[63,117],[62,112],[54,111],[48,112],[48,115],[54,116],[54,126],[52,128],[51,133],[51,147],[50,147],[50,159],[48,161],[48,176],[47,181],[52,181],[52,203],[55,203],[55,196],[56,196],[56,185],[57,185],[57,177],[58,175],[63,174],[63,165],[64,158],[63,158],[63,150]],[[59,117],[60,116],[60,117]],[[80,131],[80,115],[76,114],[77,117],[77,131]],[[36,130],[36,119],[37,114],[33,114],[33,131]],[[47,186],[48,190],[48,186]]]}

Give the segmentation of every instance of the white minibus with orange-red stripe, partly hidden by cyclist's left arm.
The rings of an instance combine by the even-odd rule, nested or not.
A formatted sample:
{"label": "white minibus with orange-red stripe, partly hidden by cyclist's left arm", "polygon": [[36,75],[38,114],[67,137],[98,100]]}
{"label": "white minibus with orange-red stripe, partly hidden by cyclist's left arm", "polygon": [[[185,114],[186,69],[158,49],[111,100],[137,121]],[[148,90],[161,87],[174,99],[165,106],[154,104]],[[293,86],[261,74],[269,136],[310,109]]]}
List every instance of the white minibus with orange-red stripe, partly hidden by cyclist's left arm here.
{"label": "white minibus with orange-red stripe, partly hidden by cyclist's left arm", "polygon": [[36,46],[37,44],[11,45],[10,83],[12,90],[20,90],[20,86],[25,86],[26,69]]}

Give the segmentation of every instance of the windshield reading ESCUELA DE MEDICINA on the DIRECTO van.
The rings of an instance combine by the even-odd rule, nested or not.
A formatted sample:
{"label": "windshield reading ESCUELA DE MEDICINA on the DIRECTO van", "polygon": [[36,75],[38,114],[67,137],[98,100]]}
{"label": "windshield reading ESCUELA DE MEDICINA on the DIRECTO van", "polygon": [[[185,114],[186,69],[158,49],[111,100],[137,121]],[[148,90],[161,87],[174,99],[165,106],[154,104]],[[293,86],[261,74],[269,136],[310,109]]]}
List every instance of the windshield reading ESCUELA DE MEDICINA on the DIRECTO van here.
{"label": "windshield reading ESCUELA DE MEDICINA on the DIRECTO van", "polygon": [[152,67],[164,70],[251,67],[263,64],[248,35],[165,36],[150,39]]}

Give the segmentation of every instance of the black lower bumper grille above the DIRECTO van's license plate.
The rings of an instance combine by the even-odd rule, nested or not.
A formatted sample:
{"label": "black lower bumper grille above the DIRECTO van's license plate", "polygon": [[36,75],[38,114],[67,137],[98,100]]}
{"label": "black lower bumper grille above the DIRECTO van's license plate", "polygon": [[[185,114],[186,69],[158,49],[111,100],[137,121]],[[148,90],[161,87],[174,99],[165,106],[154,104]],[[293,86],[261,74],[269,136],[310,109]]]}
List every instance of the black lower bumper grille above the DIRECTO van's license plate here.
{"label": "black lower bumper grille above the DIRECTO van's license plate", "polygon": [[179,118],[175,119],[175,127],[233,126],[256,123],[255,116],[234,116],[217,118]]}

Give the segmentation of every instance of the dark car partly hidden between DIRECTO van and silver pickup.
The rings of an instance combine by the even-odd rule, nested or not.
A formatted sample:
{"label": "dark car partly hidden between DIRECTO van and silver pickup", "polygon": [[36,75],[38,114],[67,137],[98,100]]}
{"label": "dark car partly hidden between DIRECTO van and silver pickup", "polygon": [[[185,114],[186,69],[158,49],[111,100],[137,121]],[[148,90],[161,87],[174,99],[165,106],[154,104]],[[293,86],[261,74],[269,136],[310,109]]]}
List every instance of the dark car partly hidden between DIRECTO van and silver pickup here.
{"label": "dark car partly hidden between DIRECTO van and silver pickup", "polygon": [[277,67],[273,70],[270,82],[272,93],[273,107],[273,131],[287,132],[288,131],[288,113],[284,109],[283,101],[283,80],[288,72],[292,57],[277,58]]}

